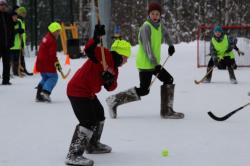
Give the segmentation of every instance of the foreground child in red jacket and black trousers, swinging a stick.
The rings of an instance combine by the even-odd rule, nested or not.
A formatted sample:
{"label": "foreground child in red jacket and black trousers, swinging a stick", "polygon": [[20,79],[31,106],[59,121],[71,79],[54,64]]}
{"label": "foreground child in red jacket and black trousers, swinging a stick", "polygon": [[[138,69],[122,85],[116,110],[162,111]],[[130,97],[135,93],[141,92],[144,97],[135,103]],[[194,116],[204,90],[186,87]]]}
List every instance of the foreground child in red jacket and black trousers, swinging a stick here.
{"label": "foreground child in red jacket and black trousers, swinging a stick", "polygon": [[117,87],[118,67],[127,62],[131,45],[125,40],[116,40],[111,51],[103,48],[107,64],[104,70],[102,48],[97,46],[100,36],[104,34],[104,25],[96,25],[94,38],[85,46],[89,59],[68,83],[67,95],[79,124],[70,144],[66,164],[93,165],[92,160],[82,156],[85,150],[90,154],[110,153],[112,150],[100,142],[105,116],[96,93],[101,91],[102,86],[108,91]]}

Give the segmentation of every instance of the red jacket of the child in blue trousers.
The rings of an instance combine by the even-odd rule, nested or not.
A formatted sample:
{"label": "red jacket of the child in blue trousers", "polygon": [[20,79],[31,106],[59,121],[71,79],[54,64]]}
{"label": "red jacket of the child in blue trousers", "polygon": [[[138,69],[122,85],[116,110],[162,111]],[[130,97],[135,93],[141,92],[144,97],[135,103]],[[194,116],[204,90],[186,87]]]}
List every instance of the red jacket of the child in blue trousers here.
{"label": "red jacket of the child in blue trousers", "polygon": [[36,59],[36,68],[41,73],[55,73],[56,67],[56,38],[48,32],[42,39]]}

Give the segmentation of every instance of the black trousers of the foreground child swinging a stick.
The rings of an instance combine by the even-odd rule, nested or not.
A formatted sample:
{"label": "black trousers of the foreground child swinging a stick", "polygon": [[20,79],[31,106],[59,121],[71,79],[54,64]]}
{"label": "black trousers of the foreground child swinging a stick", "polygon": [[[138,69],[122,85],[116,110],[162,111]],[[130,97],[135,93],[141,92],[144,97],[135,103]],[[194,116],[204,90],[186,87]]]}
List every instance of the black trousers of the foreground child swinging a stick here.
{"label": "black trousers of the foreground child swinging a stick", "polygon": [[81,126],[92,129],[105,120],[104,109],[98,98],[68,96],[74,113]]}

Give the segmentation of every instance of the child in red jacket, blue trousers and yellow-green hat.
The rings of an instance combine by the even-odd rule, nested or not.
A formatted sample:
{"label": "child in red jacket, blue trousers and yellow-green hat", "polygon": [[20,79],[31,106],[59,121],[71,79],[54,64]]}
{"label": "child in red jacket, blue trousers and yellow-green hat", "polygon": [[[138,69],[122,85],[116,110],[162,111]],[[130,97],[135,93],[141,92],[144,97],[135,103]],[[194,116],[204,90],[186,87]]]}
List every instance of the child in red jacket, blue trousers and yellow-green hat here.
{"label": "child in red jacket, blue trousers and yellow-green hat", "polygon": [[56,39],[60,34],[61,25],[57,22],[52,22],[48,26],[48,29],[49,32],[43,37],[40,43],[36,59],[36,68],[42,77],[37,86],[36,101],[41,102],[51,102],[50,94],[58,80],[56,70],[61,68],[56,56]]}

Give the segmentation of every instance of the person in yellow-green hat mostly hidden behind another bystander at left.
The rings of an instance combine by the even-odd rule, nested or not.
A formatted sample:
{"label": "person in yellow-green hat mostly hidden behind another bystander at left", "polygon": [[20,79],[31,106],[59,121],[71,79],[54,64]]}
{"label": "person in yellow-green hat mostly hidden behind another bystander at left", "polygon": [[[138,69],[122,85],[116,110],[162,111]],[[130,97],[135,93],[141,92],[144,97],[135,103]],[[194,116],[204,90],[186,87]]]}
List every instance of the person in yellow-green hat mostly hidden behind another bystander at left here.
{"label": "person in yellow-green hat mostly hidden behind another bystander at left", "polygon": [[23,68],[23,73],[25,73],[26,75],[29,75],[29,76],[32,76],[33,73],[30,73],[27,71],[26,69],[26,65],[25,65],[25,58],[24,58],[24,48],[26,47],[26,39],[27,39],[27,34],[26,34],[26,24],[25,24],[25,17],[27,16],[27,10],[25,7],[21,6],[19,7],[18,9],[16,9],[16,12],[18,14],[18,17],[19,19],[21,20],[21,23],[22,23],[22,28],[24,29],[24,33],[22,34],[22,42],[21,42],[21,50],[22,50],[22,54],[21,54],[21,65],[22,65],[22,68]]}

